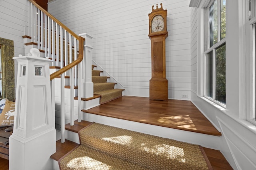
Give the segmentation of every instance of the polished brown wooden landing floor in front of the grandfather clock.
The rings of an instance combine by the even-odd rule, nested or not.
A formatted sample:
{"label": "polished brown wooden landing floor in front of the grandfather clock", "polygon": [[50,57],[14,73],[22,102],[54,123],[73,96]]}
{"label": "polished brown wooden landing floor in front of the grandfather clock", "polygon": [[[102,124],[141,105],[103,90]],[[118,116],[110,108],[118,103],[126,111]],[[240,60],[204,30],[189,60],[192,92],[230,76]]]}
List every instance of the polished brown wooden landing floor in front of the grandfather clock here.
{"label": "polished brown wooden landing floor in front of the grandfather clock", "polygon": [[221,133],[190,101],[160,101],[123,96],[83,111],[150,125],[221,136]]}

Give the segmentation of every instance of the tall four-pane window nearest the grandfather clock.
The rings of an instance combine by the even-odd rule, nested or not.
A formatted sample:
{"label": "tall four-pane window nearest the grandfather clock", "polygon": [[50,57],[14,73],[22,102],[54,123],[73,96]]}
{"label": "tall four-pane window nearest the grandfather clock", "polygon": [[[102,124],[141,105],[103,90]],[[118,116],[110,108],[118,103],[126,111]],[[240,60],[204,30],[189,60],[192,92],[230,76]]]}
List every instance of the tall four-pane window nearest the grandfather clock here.
{"label": "tall four-pane window nearest the grandfather clock", "polygon": [[226,104],[226,0],[214,0],[205,10],[204,96]]}

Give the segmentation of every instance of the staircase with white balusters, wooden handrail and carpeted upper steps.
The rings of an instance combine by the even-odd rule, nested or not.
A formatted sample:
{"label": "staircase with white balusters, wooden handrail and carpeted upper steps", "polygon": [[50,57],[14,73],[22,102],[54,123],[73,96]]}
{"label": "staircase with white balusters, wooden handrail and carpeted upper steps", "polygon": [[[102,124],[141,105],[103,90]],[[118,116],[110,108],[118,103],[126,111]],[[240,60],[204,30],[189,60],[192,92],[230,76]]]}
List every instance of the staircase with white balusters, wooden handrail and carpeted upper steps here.
{"label": "staircase with white balusters, wooden handrail and carpeted upper steps", "polygon": [[[55,96],[56,129],[61,131],[64,142],[66,123],[74,125],[74,120],[81,121],[82,109],[119,98],[124,89],[114,89],[116,83],[103,80],[101,71],[91,70],[95,67],[91,67],[92,37],[86,33],[76,35],[36,2],[29,1],[28,35],[23,37],[25,53],[37,48],[40,57],[52,60],[50,78],[52,96]],[[88,74],[90,72],[92,74]]]}

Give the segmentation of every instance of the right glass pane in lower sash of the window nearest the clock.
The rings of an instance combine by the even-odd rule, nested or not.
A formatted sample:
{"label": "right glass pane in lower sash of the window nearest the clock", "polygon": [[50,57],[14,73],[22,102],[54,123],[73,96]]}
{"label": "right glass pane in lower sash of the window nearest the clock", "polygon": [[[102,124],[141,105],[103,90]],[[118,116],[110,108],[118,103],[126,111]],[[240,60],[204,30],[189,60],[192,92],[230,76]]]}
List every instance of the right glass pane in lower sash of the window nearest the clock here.
{"label": "right glass pane in lower sash of the window nearest the clock", "polygon": [[216,96],[215,100],[226,104],[226,45],[216,49]]}

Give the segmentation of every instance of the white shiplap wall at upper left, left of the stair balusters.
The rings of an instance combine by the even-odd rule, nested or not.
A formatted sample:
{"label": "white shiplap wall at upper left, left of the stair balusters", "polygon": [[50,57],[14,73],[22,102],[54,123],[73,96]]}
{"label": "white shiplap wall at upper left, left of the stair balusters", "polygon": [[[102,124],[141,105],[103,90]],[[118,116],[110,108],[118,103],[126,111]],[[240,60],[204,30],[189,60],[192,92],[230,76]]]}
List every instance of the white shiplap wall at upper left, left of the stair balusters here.
{"label": "white shiplap wall at upper left, left of the stair balusters", "polygon": [[[28,0],[0,0],[0,37],[14,41],[14,57],[24,55],[25,25],[28,25]],[[15,84],[17,68],[15,62]]]}

